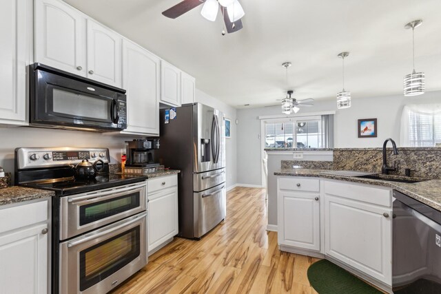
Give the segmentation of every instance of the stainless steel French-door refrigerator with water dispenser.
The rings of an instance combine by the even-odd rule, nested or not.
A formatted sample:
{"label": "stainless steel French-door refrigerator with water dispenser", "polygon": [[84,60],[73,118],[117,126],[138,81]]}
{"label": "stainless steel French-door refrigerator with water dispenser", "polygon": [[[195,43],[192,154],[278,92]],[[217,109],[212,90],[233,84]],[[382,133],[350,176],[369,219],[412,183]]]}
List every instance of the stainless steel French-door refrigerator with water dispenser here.
{"label": "stainless steel French-door refrigerator with water dispenser", "polygon": [[[200,103],[176,108],[166,121],[161,109],[157,160],[178,174],[181,237],[200,239],[226,215],[225,123],[222,112]],[[169,109],[170,110],[170,109]]]}

